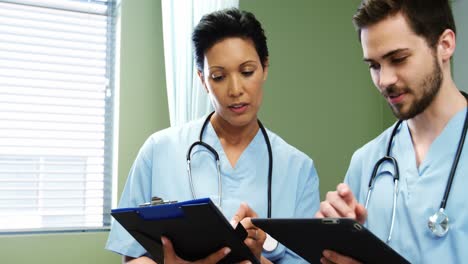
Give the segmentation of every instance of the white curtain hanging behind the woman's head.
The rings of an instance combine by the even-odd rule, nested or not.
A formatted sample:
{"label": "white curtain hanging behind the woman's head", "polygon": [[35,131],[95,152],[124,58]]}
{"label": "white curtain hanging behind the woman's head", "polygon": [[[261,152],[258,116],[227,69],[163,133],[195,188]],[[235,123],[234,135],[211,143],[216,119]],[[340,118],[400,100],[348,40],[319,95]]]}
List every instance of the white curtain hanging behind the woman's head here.
{"label": "white curtain hanging behind the woman's head", "polygon": [[239,0],[162,0],[164,59],[171,126],[212,110],[197,75],[192,31],[207,13],[239,7]]}

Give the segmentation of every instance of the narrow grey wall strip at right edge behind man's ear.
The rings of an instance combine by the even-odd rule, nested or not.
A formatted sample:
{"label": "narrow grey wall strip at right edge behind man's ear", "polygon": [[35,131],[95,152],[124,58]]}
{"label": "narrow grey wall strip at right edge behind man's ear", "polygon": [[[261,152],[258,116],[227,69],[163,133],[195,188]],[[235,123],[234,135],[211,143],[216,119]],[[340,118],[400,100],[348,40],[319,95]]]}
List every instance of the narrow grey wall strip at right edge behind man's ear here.
{"label": "narrow grey wall strip at right edge behind man's ear", "polygon": [[468,92],[468,0],[453,1],[453,12],[457,25],[454,77],[458,89]]}

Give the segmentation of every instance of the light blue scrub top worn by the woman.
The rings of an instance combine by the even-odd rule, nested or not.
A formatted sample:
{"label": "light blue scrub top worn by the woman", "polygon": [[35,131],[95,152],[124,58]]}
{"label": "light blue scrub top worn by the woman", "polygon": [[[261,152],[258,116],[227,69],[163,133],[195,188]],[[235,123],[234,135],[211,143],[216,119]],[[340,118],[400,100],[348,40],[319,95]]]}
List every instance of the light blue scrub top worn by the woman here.
{"label": "light blue scrub top worn by the woman", "polygon": [[[205,117],[206,118],[206,117]],[[187,174],[186,154],[198,140],[205,118],[181,127],[156,132],[144,143],[130,170],[118,207],[135,207],[152,196],[165,200],[193,199]],[[313,161],[267,131],[273,153],[272,217],[311,218],[318,210],[319,181]],[[261,130],[250,142],[233,168],[211,124],[203,141],[218,153],[221,162],[222,207],[228,220],[246,202],[259,217],[267,217],[268,149]],[[218,201],[218,176],[213,155],[201,146],[192,150],[192,176],[197,198]],[[146,253],[116,221],[112,224],[106,248],[122,255],[139,257]],[[264,254],[277,263],[304,260],[280,245]]]}

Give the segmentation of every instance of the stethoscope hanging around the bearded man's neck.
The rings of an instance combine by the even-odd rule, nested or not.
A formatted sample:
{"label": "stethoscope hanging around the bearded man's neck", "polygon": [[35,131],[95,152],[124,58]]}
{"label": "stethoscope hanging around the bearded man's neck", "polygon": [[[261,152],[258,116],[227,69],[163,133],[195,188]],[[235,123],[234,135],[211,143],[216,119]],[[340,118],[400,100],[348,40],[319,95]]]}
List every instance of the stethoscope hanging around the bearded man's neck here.
{"label": "stethoscope hanging around the bearded man's neck", "polygon": [[[468,100],[468,95],[464,92],[461,92],[463,94],[463,96]],[[392,149],[392,143],[393,143],[393,138],[395,137],[395,134],[398,130],[398,127],[400,127],[402,123],[402,120],[399,120],[395,127],[393,128],[393,131],[392,131],[392,134],[390,136],[390,139],[388,141],[388,146],[387,146],[387,154],[379,159],[377,161],[377,163],[375,164],[374,166],[374,170],[372,171],[372,176],[369,180],[369,190],[367,191],[367,196],[366,196],[366,204],[365,204],[365,208],[367,209],[367,206],[369,204],[369,200],[370,200],[370,196],[371,196],[371,193],[372,193],[372,189],[374,188],[374,182],[375,182],[375,178],[377,176],[377,170],[379,169],[380,165],[386,161],[390,162],[394,169],[395,169],[395,173],[393,175],[393,183],[394,183],[394,186],[393,186],[393,208],[392,208],[392,220],[391,220],[391,223],[390,223],[390,230],[389,230],[389,234],[388,234],[388,238],[387,238],[387,243],[390,242],[391,238],[392,238],[392,232],[393,232],[393,226],[394,226],[394,223],[395,223],[395,212],[396,212],[396,201],[397,201],[397,195],[398,195],[398,182],[400,180],[400,172],[399,172],[399,169],[398,169],[398,162],[397,160],[392,157],[390,155],[390,152],[391,152],[391,149]],[[435,236],[437,237],[443,237],[447,234],[448,230],[449,230],[449,218],[447,216],[447,214],[445,214],[445,207],[447,206],[447,200],[448,200],[448,196],[450,194],[450,189],[452,187],[452,181],[453,181],[453,178],[455,177],[455,171],[457,170],[457,165],[458,165],[458,161],[460,159],[460,155],[461,155],[461,152],[462,152],[462,149],[463,149],[463,145],[465,143],[465,137],[466,137],[466,131],[468,129],[468,107],[467,107],[467,111],[466,111],[466,117],[465,117],[465,123],[463,125],[463,131],[462,131],[462,134],[460,135],[460,141],[458,142],[458,148],[457,148],[457,152],[455,154],[455,159],[453,160],[453,164],[452,164],[452,168],[450,170],[450,175],[449,175],[449,179],[447,181],[447,186],[445,187],[445,193],[444,193],[444,197],[440,203],[440,207],[439,207],[439,211],[437,211],[436,213],[434,213],[432,216],[429,217],[429,220],[427,222],[427,225],[429,227],[429,230],[432,232],[432,234],[434,234]]]}

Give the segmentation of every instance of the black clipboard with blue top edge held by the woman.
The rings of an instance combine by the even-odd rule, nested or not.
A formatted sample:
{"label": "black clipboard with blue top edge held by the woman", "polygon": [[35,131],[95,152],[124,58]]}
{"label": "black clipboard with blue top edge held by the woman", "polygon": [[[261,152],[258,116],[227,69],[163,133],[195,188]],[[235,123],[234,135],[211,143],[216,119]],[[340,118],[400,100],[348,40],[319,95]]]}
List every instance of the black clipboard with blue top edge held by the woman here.
{"label": "black clipboard with blue top edge held by the woman", "polygon": [[231,252],[219,263],[250,260],[260,264],[244,243],[244,227],[237,225],[234,229],[209,198],[113,209],[111,215],[158,263],[164,263],[164,235],[171,240],[176,254],[188,261],[205,258],[227,246]]}

